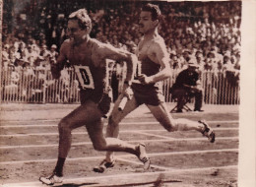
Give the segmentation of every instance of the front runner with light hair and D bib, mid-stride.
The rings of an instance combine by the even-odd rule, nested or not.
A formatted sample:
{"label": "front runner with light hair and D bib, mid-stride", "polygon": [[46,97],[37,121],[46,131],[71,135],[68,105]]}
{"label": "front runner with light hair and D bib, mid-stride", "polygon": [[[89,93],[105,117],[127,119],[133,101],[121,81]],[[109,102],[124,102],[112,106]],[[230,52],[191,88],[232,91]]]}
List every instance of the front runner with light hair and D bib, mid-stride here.
{"label": "front runner with light hair and D bib, mid-stride", "polygon": [[[70,39],[63,42],[57,63],[51,66],[54,79],[60,77],[67,60],[74,67],[80,83],[81,105],[65,116],[58,124],[59,148],[58,159],[53,173],[49,177],[40,177],[44,184],[55,184],[63,181],[63,165],[71,148],[71,131],[86,126],[96,151],[127,152],[138,156],[147,169],[150,159],[146,154],[145,145],[130,145],[116,138],[104,138],[101,117],[110,107],[110,98],[106,91],[106,63],[109,58],[127,62],[126,81],[133,79],[134,64],[138,59],[127,51],[114,48],[89,36],[92,21],[86,9],[80,9],[69,16],[68,31]],[[132,90],[127,86],[123,91],[130,95]]]}

